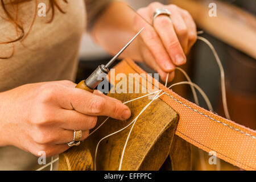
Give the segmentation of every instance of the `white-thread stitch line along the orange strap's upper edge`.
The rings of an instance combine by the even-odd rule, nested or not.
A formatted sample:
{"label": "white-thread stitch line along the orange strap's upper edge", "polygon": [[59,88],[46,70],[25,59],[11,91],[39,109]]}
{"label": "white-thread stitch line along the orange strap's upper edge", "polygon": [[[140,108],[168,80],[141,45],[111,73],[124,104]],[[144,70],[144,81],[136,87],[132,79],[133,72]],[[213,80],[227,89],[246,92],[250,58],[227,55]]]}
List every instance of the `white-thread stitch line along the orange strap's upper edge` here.
{"label": "white-thread stitch line along the orange strap's upper edge", "polygon": [[[126,63],[130,65],[130,63],[129,63],[128,61],[126,61]],[[137,71],[137,70],[133,67],[133,65],[130,65],[130,67],[131,67],[132,69],[134,69],[135,72],[139,72],[139,71]],[[155,84],[153,84],[151,81],[148,81],[147,78],[145,78],[145,77],[143,77],[143,76],[141,76],[141,77],[144,78],[144,80],[146,80],[147,82],[150,82],[152,85],[155,86]],[[159,84],[162,85],[160,82],[159,82]],[[160,87],[158,87],[158,86],[155,86],[155,87],[158,88],[158,89],[160,89]],[[160,90],[162,90],[162,89],[160,89]],[[162,90],[162,92],[164,92],[164,91]],[[221,121],[218,121],[217,119],[211,118],[211,117],[209,117],[208,115],[205,115],[205,114],[203,114],[203,113],[197,111],[196,109],[192,109],[191,107],[189,107],[189,106],[183,104],[182,102],[180,102],[179,100],[177,100],[176,98],[174,98],[173,96],[171,96],[170,94],[168,94],[168,93],[166,93],[166,92],[164,92],[164,93],[167,94],[167,95],[168,95],[169,97],[171,97],[172,99],[174,99],[176,102],[179,102],[180,104],[184,105],[185,107],[188,107],[189,109],[195,111],[196,113],[199,113],[199,114],[201,114],[201,115],[204,115],[204,117],[207,117],[207,118],[211,119],[212,121],[216,121],[216,122],[218,122],[218,123],[221,123],[222,125],[227,126],[227,127],[229,127],[230,129],[235,130],[235,131],[238,131],[238,132],[240,132],[240,133],[242,133],[242,134],[245,134],[245,135],[247,135],[248,137],[251,137],[251,138],[253,138],[253,139],[256,139],[255,136],[250,135],[250,134],[248,134],[248,133],[245,133],[244,131],[241,131],[241,130],[239,130],[239,129],[236,129],[236,128],[232,127],[232,126],[229,126],[229,125],[227,125],[226,123],[223,123],[223,122],[221,122]]]}

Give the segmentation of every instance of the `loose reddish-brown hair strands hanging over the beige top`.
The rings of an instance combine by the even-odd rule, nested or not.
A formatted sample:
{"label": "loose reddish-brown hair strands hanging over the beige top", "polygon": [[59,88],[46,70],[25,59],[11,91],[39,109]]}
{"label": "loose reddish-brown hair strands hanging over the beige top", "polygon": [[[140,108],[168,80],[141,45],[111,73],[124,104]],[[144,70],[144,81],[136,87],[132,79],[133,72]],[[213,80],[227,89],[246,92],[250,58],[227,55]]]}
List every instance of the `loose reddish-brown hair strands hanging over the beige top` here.
{"label": "loose reddish-brown hair strands hanging over the beige top", "polygon": [[[9,40],[7,42],[0,42],[0,44],[13,44],[13,51],[12,51],[11,55],[7,56],[7,57],[1,57],[0,56],[0,59],[9,59],[10,57],[12,57],[14,55],[14,52],[15,52],[14,42],[20,41],[22,43],[22,40],[24,40],[27,37],[27,35],[29,34],[29,32],[31,31],[31,28],[32,28],[32,26],[35,22],[36,13],[38,11],[38,7],[37,7],[38,6],[38,0],[35,0],[35,15],[34,15],[34,18],[32,20],[32,23],[31,23],[31,25],[28,28],[28,31],[26,33],[24,32],[24,28],[23,28],[22,24],[18,20],[19,4],[24,3],[24,2],[28,2],[28,1],[33,1],[33,0],[9,0],[9,2],[7,2],[7,3],[5,3],[4,0],[1,0],[1,6],[2,6],[3,11],[5,12],[5,14],[7,16],[7,19],[5,19],[3,17],[2,18],[11,22],[11,23],[13,23],[15,25],[16,34],[17,34],[18,38],[13,39],[13,40]],[[65,12],[61,9],[59,4],[57,3],[57,0],[48,0],[48,1],[49,1],[50,7],[47,10],[47,12],[51,10],[52,11],[52,16],[51,16],[51,19],[49,19],[49,21],[47,23],[51,23],[53,18],[54,18],[55,7],[61,13],[65,14]],[[67,0],[63,0],[63,2],[68,3]],[[7,10],[7,7],[6,7],[7,5],[11,5],[13,7],[13,9],[15,9],[15,14],[11,14],[10,11]]]}

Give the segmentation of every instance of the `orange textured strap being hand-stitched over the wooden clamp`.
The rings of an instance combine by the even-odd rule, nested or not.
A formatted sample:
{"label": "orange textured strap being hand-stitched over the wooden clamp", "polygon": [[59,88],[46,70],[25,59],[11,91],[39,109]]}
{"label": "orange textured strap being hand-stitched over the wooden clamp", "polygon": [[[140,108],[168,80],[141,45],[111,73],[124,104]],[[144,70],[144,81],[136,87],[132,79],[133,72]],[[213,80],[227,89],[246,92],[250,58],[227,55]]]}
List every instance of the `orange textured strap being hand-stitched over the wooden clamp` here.
{"label": "orange textured strap being hand-stitched over the wooden clamp", "polygon": [[[132,60],[125,59],[115,66],[115,74],[117,73],[128,75],[128,73],[146,72]],[[150,76],[143,79],[147,79],[150,84],[152,82]],[[141,79],[138,81],[143,84]],[[176,135],[206,152],[216,152],[218,158],[237,167],[256,170],[256,132],[254,130],[205,110],[160,83],[158,86],[167,93],[160,98],[179,114]]]}

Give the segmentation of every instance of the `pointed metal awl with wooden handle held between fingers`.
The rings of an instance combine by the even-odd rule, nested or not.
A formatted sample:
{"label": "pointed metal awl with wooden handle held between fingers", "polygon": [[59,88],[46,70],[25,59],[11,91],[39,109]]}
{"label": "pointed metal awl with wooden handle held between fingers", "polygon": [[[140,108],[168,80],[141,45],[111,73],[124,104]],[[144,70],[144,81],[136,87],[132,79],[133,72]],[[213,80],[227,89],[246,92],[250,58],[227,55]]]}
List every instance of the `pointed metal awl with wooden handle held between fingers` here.
{"label": "pointed metal awl with wooden handle held between fingers", "polygon": [[96,86],[104,80],[104,78],[108,75],[110,66],[117,60],[118,56],[121,55],[123,51],[133,42],[133,40],[141,33],[144,27],[106,64],[99,65],[95,71],[86,79],[79,82],[76,85],[76,88],[84,89],[93,93],[93,90]]}

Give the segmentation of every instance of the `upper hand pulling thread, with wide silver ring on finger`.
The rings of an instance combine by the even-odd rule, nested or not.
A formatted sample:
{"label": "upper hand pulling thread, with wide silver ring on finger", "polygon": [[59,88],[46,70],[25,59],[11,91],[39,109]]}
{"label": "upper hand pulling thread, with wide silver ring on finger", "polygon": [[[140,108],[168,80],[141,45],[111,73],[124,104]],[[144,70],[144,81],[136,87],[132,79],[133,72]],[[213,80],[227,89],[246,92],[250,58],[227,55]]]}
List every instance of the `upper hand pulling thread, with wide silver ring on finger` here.
{"label": "upper hand pulling thread, with wide silver ring on finger", "polygon": [[[159,15],[152,23],[152,14],[158,8],[167,9],[171,16]],[[147,7],[137,11],[139,15],[135,16],[135,31],[141,30],[139,49],[141,59],[145,61],[152,69],[157,71],[162,78],[168,81],[174,78],[175,66],[186,63],[186,54],[196,42],[196,24],[188,11],[180,9],[176,5],[162,5],[159,2],[153,2]]]}

